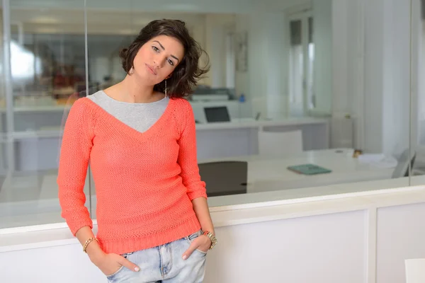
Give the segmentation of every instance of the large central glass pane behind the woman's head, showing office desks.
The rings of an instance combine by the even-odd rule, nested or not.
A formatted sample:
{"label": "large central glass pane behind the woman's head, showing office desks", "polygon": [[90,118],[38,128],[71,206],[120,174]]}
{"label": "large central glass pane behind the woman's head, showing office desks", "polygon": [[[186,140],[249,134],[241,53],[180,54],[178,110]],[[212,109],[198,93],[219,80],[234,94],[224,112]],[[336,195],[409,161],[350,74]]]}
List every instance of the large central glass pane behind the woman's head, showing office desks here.
{"label": "large central glass pane behind the woman's head, showing office desks", "polygon": [[[331,0],[311,1],[301,8],[275,3],[261,11],[249,6],[244,13],[226,5],[212,13],[206,4],[193,9],[177,5],[179,11],[166,6],[158,13],[147,1],[123,3],[120,13],[109,13],[88,1],[95,8],[88,15],[90,83],[101,84],[115,70],[115,83],[123,79],[118,50],[149,21],[185,21],[210,57],[208,77],[188,100],[197,122],[200,172],[208,181],[212,205],[220,205],[214,196],[235,192],[242,192],[237,201],[243,202],[251,192],[285,195],[284,190],[292,190],[297,195],[317,186],[322,187],[315,194],[351,192],[369,189],[354,183],[392,178],[400,179],[397,185],[407,185],[402,158],[408,149],[409,103],[403,93],[409,91],[409,43],[397,42],[396,31],[378,40],[381,26],[373,21],[362,30],[365,15],[360,6],[338,6],[351,16],[334,18]],[[397,31],[407,27],[409,18],[408,7],[399,8],[402,21],[393,22]],[[384,21],[382,15],[373,15],[378,16]],[[111,18],[113,26],[108,25]],[[123,35],[128,35],[127,42],[118,39]],[[96,38],[111,52],[95,51]],[[388,42],[397,43],[397,48],[389,52]],[[402,76],[386,68],[397,64]],[[109,69],[102,67],[106,65]],[[377,83],[382,80],[384,86]],[[205,108],[224,108],[228,116],[210,115]],[[223,117],[227,120],[220,120]],[[227,169],[234,178],[225,185],[205,173],[211,164],[220,166],[215,161],[240,166]],[[307,165],[317,167],[300,173],[310,168]],[[351,185],[332,187],[341,183]]]}

